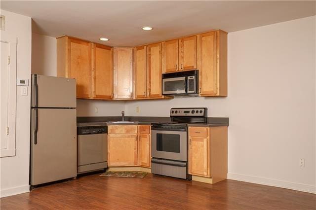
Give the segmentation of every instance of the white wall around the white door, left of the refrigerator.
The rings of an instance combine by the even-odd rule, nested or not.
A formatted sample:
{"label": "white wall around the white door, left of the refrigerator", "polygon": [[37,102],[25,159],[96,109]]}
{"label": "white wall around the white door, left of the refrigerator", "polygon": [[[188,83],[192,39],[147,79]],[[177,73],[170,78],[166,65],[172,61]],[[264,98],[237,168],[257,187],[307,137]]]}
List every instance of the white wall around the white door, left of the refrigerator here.
{"label": "white wall around the white door, left of the refrigerator", "polygon": [[[17,77],[31,79],[31,18],[1,10],[5,33],[17,37]],[[17,93],[20,93],[17,86]],[[0,197],[29,191],[30,86],[16,97],[16,156],[0,158]]]}

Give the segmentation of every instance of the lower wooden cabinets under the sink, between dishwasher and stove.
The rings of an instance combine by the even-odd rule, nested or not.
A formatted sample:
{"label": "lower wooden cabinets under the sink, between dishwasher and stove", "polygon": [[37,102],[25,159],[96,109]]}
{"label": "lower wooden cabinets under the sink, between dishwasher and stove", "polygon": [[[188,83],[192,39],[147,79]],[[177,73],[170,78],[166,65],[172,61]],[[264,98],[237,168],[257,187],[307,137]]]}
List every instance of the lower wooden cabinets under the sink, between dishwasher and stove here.
{"label": "lower wooden cabinets under the sink, between dishwasher and stove", "polygon": [[108,165],[151,167],[150,126],[108,126]]}

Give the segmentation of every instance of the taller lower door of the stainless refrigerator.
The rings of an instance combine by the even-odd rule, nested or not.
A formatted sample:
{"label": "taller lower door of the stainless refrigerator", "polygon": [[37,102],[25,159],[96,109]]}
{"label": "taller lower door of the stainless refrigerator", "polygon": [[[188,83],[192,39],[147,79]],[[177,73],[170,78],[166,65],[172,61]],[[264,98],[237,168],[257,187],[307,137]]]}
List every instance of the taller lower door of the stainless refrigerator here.
{"label": "taller lower door of the stainless refrigerator", "polygon": [[77,175],[76,109],[32,108],[31,133],[31,185]]}

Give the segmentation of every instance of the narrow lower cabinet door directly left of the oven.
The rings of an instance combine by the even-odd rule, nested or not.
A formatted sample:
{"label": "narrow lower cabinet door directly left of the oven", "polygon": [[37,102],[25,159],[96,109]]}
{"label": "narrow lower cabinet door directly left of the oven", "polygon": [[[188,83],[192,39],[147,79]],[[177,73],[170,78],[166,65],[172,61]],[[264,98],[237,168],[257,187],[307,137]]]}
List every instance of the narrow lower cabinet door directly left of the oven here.
{"label": "narrow lower cabinet door directly left of the oven", "polygon": [[151,163],[151,136],[149,134],[140,134],[138,136],[138,165],[150,167]]}

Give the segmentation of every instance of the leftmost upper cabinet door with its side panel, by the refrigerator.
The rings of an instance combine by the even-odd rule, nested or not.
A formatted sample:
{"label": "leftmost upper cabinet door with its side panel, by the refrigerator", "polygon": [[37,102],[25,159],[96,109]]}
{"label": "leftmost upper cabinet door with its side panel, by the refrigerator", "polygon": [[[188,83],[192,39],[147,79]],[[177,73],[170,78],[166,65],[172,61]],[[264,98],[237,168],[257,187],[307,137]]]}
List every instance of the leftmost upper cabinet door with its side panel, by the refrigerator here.
{"label": "leftmost upper cabinet door with its side panel, by the refrigerator", "polygon": [[57,76],[75,78],[77,98],[91,98],[91,43],[77,38],[57,38]]}

